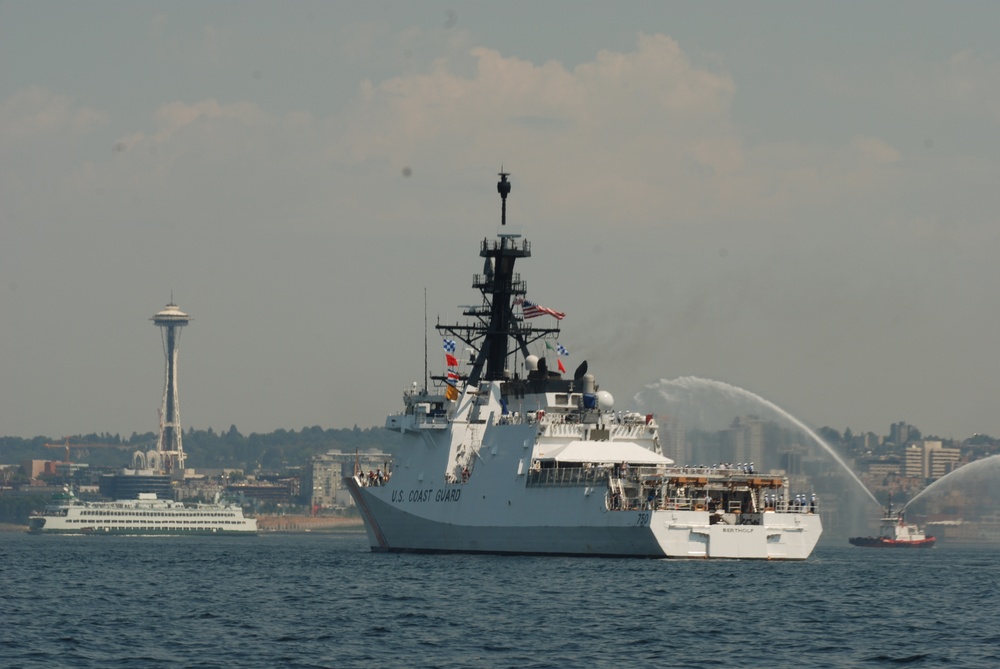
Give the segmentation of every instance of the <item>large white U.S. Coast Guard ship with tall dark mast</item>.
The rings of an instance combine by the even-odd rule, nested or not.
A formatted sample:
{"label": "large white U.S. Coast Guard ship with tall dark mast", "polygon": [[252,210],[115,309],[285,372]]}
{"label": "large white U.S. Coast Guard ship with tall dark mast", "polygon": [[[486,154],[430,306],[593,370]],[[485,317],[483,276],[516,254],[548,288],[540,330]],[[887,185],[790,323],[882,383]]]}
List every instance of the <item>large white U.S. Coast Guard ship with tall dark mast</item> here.
{"label": "large white U.S. Coast Guard ship with tall dark mast", "polygon": [[[531,246],[506,226],[507,176],[499,234],[481,243],[473,279],[482,303],[464,308],[465,324],[436,326],[447,373],[431,377],[437,390],[414,384],[387,418],[404,435],[391,473],[345,479],[372,550],[807,558],[822,523],[786,480],[676,466],[654,416],[616,411],[586,362],[564,378],[533,352],[560,330],[527,320],[563,314],[525,304],[514,263]],[[461,364],[456,340],[471,352]]]}

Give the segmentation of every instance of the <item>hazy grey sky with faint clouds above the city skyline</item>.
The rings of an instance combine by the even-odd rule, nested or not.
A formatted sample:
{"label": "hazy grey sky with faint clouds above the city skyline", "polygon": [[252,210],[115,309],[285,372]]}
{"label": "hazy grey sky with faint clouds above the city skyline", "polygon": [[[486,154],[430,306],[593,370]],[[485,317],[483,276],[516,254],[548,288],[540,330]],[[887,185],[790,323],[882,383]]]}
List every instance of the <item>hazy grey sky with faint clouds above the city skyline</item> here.
{"label": "hazy grey sky with faint clouds above the city skyline", "polygon": [[[0,434],[382,425],[507,217],[620,408],[1000,436],[1000,5],[0,2]],[[549,325],[554,323],[550,322]],[[440,372],[431,328],[429,359]],[[436,369],[435,369],[436,368]]]}

